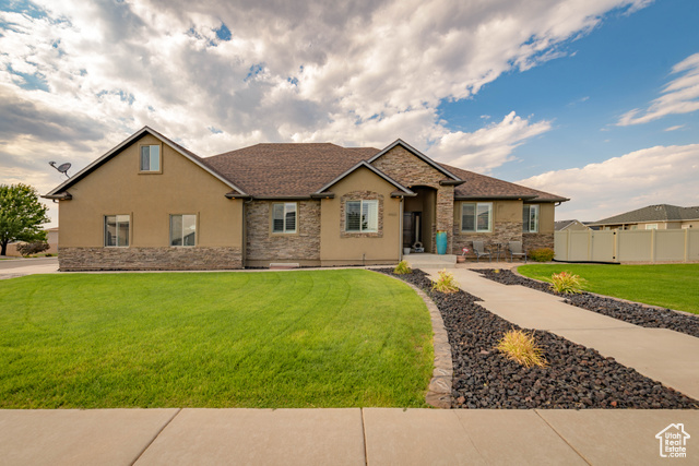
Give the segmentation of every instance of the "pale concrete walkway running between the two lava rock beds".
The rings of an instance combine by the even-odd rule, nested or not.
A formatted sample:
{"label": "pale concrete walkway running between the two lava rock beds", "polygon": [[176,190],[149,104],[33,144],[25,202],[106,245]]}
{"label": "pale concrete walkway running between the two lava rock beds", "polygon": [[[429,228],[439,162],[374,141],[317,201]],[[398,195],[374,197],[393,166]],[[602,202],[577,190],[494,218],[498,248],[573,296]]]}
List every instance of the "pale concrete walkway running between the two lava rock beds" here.
{"label": "pale concrete walkway running between the two lava rock beds", "polygon": [[[425,270],[433,278],[437,270]],[[594,348],[605,357],[699,399],[699,338],[666,328],[645,328],[566,304],[554,295],[501,285],[477,272],[450,271],[478,304],[521,327],[545,330]],[[699,457],[697,458],[699,461]]]}

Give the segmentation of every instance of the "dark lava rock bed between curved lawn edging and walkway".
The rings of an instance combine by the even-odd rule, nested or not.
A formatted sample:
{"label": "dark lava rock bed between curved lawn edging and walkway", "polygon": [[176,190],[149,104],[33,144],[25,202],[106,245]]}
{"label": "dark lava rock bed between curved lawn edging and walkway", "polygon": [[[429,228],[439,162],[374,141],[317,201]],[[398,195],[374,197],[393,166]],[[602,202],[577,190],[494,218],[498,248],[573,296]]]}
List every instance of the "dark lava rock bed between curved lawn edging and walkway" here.
{"label": "dark lava rock bed between curved lawn edging and walkway", "polygon": [[454,367],[452,408],[699,409],[696,399],[548,332],[533,332],[548,365],[524,368],[495,349],[505,332],[520,327],[478,306],[478,298],[430,292],[422,271],[379,272],[422,288],[439,308]]}

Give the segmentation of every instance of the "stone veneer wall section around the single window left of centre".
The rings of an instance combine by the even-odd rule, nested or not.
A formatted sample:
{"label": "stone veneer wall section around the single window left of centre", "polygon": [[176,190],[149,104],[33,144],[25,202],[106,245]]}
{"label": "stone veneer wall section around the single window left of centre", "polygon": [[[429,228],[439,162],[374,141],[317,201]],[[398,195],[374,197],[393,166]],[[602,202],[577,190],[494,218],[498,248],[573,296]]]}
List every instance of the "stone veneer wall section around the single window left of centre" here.
{"label": "stone veneer wall section around the single window left of centre", "polygon": [[320,261],[320,201],[297,202],[295,234],[272,234],[273,203],[246,205],[246,261]]}

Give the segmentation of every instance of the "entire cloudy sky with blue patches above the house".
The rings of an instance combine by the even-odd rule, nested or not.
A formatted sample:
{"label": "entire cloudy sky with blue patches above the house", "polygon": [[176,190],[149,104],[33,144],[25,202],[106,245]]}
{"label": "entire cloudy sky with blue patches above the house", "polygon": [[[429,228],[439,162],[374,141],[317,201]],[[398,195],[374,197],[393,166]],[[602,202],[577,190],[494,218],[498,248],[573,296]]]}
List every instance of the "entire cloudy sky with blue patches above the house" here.
{"label": "entire cloudy sky with blue patches above the house", "polygon": [[[384,147],[570,198],[699,205],[696,0],[0,0],[0,183],[147,124],[201,156]],[[51,204],[56,224],[58,214]]]}

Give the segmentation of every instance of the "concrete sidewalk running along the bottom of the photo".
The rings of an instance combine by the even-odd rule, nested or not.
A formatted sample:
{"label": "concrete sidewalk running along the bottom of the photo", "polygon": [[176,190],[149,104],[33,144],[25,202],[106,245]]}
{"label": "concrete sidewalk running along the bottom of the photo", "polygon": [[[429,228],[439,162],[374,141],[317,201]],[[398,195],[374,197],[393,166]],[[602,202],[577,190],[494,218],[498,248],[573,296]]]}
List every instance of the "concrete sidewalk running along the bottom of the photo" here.
{"label": "concrete sidewalk running along the bottom of the photo", "polygon": [[655,435],[697,410],[0,410],[3,465],[667,464]]}

